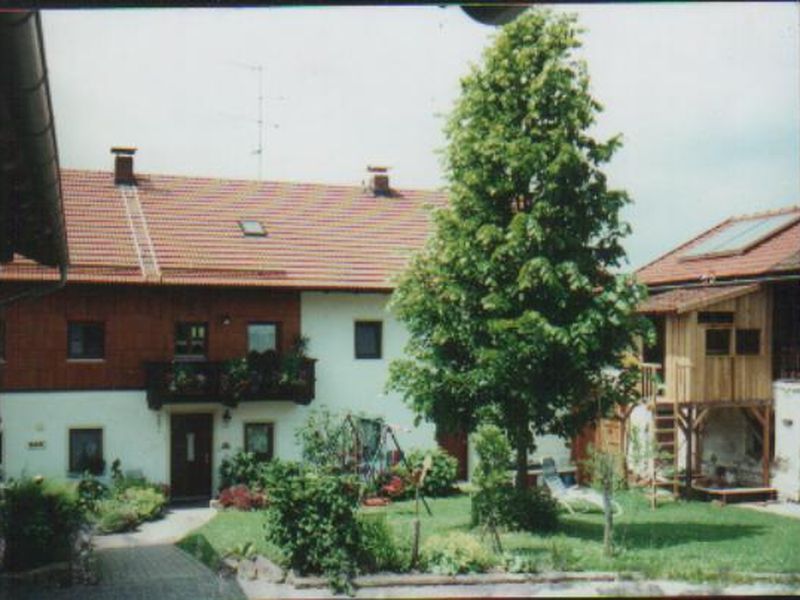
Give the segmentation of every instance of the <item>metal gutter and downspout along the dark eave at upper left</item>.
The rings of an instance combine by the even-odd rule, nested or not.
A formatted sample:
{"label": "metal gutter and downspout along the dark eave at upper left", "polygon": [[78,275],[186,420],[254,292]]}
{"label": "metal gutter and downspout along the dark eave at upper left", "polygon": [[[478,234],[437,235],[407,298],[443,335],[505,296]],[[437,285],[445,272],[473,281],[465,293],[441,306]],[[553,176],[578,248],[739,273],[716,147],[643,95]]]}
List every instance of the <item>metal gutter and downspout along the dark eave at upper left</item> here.
{"label": "metal gutter and downspout along the dark eave at upper left", "polygon": [[[69,253],[62,205],[61,171],[55,134],[53,103],[47,78],[42,23],[39,11],[6,14],[0,20],[6,29],[4,37],[11,70],[13,91],[17,102],[9,107],[12,118],[19,124],[18,139],[25,160],[25,169],[40,202],[46,205],[47,226],[55,230],[54,258],[59,279],[47,285],[35,285],[16,294],[0,298],[0,308],[25,298],[53,293],[67,282]],[[10,48],[9,48],[10,46]],[[16,59],[16,60],[14,60]],[[31,81],[33,78],[33,81]]]}

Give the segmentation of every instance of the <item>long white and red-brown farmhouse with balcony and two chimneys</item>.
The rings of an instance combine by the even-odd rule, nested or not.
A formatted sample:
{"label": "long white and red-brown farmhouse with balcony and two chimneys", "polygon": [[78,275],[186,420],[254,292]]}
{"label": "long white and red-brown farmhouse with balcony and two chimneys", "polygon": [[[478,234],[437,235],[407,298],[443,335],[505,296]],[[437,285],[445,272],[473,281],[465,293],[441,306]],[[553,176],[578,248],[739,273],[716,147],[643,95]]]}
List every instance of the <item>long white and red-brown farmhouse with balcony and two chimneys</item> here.
{"label": "long white and red-brown farmhouse with balcony and two chimneys", "polygon": [[[295,431],[323,406],[383,419],[405,450],[438,439],[467,476],[466,436],[415,426],[384,390],[407,340],[392,281],[442,193],[381,169],[352,187],[144,175],[126,148],[113,172],[61,181],[67,284],[0,328],[6,476],[107,476],[119,460],[174,497],[209,496],[239,449],[299,458]],[[57,279],[20,258],[0,270],[8,290]],[[243,377],[252,352],[261,375]],[[545,453],[569,463],[557,438]]]}

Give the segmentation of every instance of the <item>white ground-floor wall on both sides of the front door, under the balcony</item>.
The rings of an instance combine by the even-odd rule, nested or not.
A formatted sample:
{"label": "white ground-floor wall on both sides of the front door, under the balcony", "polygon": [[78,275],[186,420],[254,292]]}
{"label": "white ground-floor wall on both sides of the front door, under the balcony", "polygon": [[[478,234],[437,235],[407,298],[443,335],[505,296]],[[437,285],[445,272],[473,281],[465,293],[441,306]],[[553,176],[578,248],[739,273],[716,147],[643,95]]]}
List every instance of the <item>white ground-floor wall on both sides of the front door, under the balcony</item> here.
{"label": "white ground-floor wall on both sides of the front door, under the balcony", "polygon": [[[244,424],[274,424],[275,456],[300,458],[295,429],[303,423],[305,407],[293,402],[248,402],[230,410],[218,404],[167,405],[147,408],[143,391],[18,392],[0,394],[3,417],[3,470],[7,477],[44,475],[69,477],[69,430],[91,427],[103,430],[105,477],[111,463],[120,459],[123,471],[140,471],[151,481],[170,481],[170,415],[213,415],[212,481],[216,490],[222,460],[244,446]],[[41,448],[29,442],[44,442]]]}

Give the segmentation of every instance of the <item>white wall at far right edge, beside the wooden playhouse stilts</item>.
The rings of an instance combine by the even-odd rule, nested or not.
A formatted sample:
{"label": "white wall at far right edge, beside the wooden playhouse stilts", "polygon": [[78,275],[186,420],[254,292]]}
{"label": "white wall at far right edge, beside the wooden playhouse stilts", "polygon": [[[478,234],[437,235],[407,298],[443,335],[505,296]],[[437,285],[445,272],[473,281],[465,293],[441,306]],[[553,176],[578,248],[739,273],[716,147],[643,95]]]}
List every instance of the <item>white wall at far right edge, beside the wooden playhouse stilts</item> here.
{"label": "white wall at far right edge, beside the wooden playhouse stilts", "polygon": [[775,461],[772,485],[783,499],[800,502],[800,381],[776,381]]}

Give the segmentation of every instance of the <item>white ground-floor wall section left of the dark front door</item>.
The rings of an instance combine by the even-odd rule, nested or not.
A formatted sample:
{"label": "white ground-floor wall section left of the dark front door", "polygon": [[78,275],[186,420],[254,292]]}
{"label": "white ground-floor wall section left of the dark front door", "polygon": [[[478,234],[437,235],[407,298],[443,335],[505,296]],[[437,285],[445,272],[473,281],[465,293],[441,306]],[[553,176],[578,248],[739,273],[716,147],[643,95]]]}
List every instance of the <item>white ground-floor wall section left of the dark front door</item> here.
{"label": "white ground-floor wall section left of the dark front door", "polygon": [[[66,478],[69,430],[103,430],[107,467],[119,458],[123,470],[140,470],[168,481],[169,421],[147,408],[144,392],[13,392],[0,394],[3,469],[7,476]],[[43,447],[30,443],[43,442]]]}

